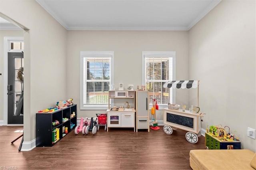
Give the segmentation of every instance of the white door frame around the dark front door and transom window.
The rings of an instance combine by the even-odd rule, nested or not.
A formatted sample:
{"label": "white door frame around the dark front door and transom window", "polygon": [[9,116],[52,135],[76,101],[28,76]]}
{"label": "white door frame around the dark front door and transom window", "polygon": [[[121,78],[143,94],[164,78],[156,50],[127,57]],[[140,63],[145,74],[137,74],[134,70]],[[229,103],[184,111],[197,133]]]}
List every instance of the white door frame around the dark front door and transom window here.
{"label": "white door frame around the dark front door and transom window", "polygon": [[24,37],[4,37],[4,84],[3,84],[3,95],[4,95],[4,122],[3,125],[7,125],[8,119],[8,95],[7,95],[7,84],[8,84],[8,50],[11,49],[12,42],[24,42]]}

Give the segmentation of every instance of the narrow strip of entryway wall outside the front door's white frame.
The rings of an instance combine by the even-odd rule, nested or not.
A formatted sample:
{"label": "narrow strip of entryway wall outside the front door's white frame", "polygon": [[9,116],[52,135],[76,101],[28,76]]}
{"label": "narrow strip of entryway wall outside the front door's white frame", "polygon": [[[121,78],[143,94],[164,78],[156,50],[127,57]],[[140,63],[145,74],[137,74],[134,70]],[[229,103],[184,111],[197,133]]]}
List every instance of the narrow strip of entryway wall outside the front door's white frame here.
{"label": "narrow strip of entryway wall outside the front door's white frame", "polygon": [[0,30],[0,121],[4,119],[4,37],[23,37],[23,30]]}

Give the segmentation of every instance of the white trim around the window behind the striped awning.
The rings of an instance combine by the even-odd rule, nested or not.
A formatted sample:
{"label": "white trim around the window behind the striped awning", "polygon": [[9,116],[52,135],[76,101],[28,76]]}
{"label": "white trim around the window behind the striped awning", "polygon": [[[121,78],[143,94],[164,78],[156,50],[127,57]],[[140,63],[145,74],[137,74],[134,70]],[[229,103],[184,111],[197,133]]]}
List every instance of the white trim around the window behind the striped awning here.
{"label": "white trim around the window behind the striped awning", "polygon": [[[172,57],[172,78],[176,80],[176,51],[142,51],[142,85],[146,85],[145,82],[145,57],[163,57],[169,58]],[[171,81],[171,80],[170,80]],[[176,89],[172,90],[172,102],[176,103]],[[149,103],[150,108],[152,103]],[[166,105],[159,105],[159,110],[166,108]]]}

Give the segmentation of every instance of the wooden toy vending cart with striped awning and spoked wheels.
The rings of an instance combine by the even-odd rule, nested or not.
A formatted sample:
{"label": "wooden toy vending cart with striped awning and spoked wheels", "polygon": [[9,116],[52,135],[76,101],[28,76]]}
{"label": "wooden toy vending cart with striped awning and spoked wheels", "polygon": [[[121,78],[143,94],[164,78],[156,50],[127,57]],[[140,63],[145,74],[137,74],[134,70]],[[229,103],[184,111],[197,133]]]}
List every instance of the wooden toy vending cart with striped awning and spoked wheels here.
{"label": "wooden toy vending cart with striped awning and spoked wheels", "polygon": [[[198,80],[184,80],[184,81],[170,81],[164,84],[164,87],[177,88],[177,89],[190,89],[197,88],[197,106],[198,106]],[[178,108],[177,108],[178,109]],[[188,110],[178,109],[173,110],[170,108],[164,109],[164,132],[172,134],[172,130],[176,128],[188,131],[186,133],[186,140],[192,144],[198,142],[198,136],[201,136],[201,121],[205,113],[191,113]]]}

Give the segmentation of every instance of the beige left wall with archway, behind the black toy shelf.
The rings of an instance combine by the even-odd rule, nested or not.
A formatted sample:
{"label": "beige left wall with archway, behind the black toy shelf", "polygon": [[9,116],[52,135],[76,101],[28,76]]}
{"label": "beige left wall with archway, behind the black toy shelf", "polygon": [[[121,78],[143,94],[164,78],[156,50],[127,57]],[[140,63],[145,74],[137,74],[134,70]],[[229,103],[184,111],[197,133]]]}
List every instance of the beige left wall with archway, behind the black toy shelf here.
{"label": "beige left wall with archway, behind the black toy shelf", "polygon": [[24,32],[24,141],[36,138],[36,112],[66,100],[67,31],[34,0],[0,2]]}

